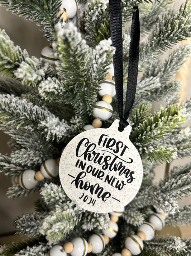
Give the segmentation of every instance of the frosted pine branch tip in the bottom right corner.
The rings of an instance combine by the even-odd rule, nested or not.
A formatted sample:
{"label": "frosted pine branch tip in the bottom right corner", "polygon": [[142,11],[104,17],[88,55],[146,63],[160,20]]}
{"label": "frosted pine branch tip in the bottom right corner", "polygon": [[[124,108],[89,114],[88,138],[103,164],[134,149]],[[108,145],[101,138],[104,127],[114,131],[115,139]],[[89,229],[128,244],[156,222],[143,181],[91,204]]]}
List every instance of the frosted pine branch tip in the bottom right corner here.
{"label": "frosted pine branch tip in the bottom right corner", "polygon": [[[163,252],[166,256],[185,256],[189,255],[191,248],[187,246],[185,241],[180,237],[157,237],[152,241],[145,241],[144,250],[151,250],[156,252]],[[144,254],[143,254],[144,255]]]}

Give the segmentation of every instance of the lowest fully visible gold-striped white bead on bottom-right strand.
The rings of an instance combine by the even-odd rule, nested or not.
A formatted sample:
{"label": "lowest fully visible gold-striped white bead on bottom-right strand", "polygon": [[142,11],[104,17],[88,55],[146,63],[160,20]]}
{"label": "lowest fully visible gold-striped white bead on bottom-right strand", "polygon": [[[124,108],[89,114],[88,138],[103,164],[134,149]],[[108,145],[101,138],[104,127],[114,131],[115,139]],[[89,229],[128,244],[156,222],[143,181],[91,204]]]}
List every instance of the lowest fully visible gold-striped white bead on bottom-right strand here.
{"label": "lowest fully visible gold-striped white bead on bottom-right strand", "polygon": [[133,255],[137,255],[143,250],[143,241],[138,237],[138,235],[130,235],[125,239],[125,247]]}

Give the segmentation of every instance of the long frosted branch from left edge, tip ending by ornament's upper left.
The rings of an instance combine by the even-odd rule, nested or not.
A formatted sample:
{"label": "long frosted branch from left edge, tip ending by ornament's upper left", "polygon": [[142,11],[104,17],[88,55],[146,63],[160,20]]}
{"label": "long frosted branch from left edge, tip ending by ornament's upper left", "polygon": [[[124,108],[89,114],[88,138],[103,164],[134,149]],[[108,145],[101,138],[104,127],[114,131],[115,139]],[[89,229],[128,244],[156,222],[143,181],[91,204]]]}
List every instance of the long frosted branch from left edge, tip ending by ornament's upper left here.
{"label": "long frosted branch from left edge, tip ending by ornament's upper left", "polygon": [[40,131],[47,140],[57,141],[67,136],[69,126],[49,112],[27,99],[13,95],[0,95],[1,122],[30,131]]}

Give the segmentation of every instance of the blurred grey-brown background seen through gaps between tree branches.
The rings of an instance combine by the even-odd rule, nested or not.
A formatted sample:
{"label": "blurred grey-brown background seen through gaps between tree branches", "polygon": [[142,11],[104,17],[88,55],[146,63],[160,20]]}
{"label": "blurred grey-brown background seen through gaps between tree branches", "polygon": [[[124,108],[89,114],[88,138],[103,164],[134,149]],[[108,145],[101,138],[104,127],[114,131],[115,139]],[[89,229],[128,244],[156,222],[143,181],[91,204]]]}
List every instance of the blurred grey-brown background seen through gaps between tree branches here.
{"label": "blurred grey-brown background seen through gaps between tree branches", "polygon": [[[175,2],[175,8],[179,8],[184,1],[176,0]],[[35,57],[40,57],[41,50],[49,45],[49,42],[43,37],[43,33],[39,31],[39,28],[35,23],[25,20],[23,17],[18,17],[11,12],[6,11],[6,8],[1,6],[0,28],[5,29],[14,44],[19,45],[22,50],[26,49],[30,56],[34,55]],[[191,96],[191,76],[188,78],[186,95]],[[153,111],[159,105],[160,103],[154,104]],[[8,140],[9,136],[0,132],[0,153],[10,154],[10,148],[7,145]],[[177,165],[183,165],[190,160],[191,158],[183,160],[178,159],[171,163],[170,168]],[[156,168],[156,182],[163,177],[164,170],[165,163]],[[34,199],[39,197],[38,193],[35,193],[30,194],[28,197],[17,198],[15,200],[9,199],[6,196],[6,191],[11,185],[11,179],[0,174],[0,237],[15,233],[13,220],[17,215],[22,215],[22,213],[25,212],[32,212],[34,210]],[[182,199],[180,201],[180,206],[189,203],[191,203],[191,197]]]}

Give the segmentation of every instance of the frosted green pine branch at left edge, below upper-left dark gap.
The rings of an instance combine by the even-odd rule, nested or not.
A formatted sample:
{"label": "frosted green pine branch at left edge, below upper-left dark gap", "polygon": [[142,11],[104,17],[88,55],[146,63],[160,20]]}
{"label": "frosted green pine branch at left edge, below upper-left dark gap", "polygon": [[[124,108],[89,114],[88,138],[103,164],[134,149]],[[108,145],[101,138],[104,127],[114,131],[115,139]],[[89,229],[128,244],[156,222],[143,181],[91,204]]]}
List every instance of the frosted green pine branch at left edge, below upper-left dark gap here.
{"label": "frosted green pine branch at left edge, below upper-left dark gap", "polygon": [[22,51],[19,46],[14,46],[5,31],[0,29],[0,71],[6,69],[3,76],[14,74],[16,78],[22,79],[23,84],[36,86],[53,72],[49,64],[42,66],[42,59],[34,56],[30,58],[26,50]]}

